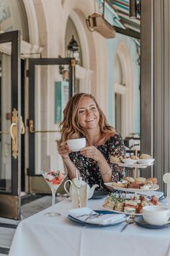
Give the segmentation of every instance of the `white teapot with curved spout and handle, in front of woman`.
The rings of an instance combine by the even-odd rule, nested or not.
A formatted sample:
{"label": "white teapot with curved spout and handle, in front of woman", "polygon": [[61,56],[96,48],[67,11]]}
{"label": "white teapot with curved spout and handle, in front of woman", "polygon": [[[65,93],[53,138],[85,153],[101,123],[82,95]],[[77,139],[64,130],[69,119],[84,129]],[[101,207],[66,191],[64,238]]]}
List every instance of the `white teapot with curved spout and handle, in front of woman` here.
{"label": "white teapot with curved spout and handle, in front of woman", "polygon": [[[71,184],[71,187],[69,189],[69,192],[68,190],[66,189],[66,184],[67,183],[70,183]],[[83,187],[86,187],[86,199],[88,200],[89,198],[91,198],[94,194],[94,189],[96,187],[99,187],[98,184],[94,184],[93,187],[89,187],[89,184],[87,184],[86,182],[84,182],[82,180],[82,178],[80,178],[79,180],[78,179],[72,179],[72,181],[70,179],[68,179],[65,183],[64,183],[64,189],[66,190],[66,192],[68,193],[68,195],[72,195],[73,194],[73,191],[78,188],[80,189],[81,191],[81,188],[83,189]]]}

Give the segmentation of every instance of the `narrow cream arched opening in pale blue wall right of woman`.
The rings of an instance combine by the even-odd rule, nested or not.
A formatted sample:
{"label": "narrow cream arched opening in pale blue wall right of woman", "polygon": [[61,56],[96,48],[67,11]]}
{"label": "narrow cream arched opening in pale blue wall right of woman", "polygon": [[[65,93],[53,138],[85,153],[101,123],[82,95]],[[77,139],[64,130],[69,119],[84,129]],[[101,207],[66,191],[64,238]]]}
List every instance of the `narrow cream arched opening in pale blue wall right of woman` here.
{"label": "narrow cream arched opening in pale blue wall right of woman", "polygon": [[133,131],[133,69],[125,43],[119,43],[114,63],[115,128],[122,137]]}

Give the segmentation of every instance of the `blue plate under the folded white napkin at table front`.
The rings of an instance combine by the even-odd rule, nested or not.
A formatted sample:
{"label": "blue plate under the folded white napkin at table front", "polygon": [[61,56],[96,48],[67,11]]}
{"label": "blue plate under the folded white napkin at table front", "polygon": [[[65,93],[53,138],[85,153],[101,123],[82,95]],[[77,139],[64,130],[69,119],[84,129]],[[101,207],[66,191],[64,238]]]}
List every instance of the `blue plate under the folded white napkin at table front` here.
{"label": "blue plate under the folded white napkin at table front", "polygon": [[[94,210],[96,213],[102,213],[102,214],[112,214],[112,211],[110,210]],[[116,214],[116,213],[115,213]],[[124,213],[122,213],[124,214]],[[125,219],[122,219],[122,220],[119,220],[119,221],[115,221],[115,223],[109,223],[109,224],[106,224],[106,225],[102,225],[102,224],[99,224],[99,223],[87,223],[85,221],[80,221],[78,220],[77,218],[73,218],[72,216],[68,215],[68,220],[70,221],[73,221],[74,223],[77,223],[79,225],[84,225],[84,226],[100,226],[100,227],[104,227],[104,226],[115,226],[117,224],[120,224],[122,222],[125,221]]]}

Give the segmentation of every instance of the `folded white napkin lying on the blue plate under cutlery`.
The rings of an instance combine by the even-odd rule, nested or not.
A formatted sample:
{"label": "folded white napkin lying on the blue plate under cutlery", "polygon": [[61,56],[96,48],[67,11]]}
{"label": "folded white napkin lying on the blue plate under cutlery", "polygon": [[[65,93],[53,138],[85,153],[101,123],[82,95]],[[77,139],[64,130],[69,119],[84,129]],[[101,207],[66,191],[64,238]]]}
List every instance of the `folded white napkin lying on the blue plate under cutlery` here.
{"label": "folded white napkin lying on the blue plate under cutlery", "polygon": [[[96,214],[94,210],[90,208],[76,208],[68,210],[69,216],[76,218],[79,221],[85,221],[86,223],[109,225],[112,223],[120,223],[125,221],[125,214],[104,214],[101,216],[92,216],[92,218],[87,218],[89,214]],[[86,219],[87,218],[87,219]]]}

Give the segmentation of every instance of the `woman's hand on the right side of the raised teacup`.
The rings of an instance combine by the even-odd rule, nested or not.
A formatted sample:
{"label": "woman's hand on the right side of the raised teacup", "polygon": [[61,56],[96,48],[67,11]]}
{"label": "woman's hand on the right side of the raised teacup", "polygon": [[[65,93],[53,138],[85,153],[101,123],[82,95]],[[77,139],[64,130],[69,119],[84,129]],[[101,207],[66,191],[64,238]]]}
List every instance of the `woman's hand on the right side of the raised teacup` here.
{"label": "woman's hand on the right side of the raised teacup", "polygon": [[84,155],[86,158],[92,158],[95,161],[102,161],[104,156],[102,153],[94,146],[88,146],[80,150],[81,155]]}

